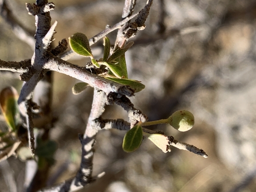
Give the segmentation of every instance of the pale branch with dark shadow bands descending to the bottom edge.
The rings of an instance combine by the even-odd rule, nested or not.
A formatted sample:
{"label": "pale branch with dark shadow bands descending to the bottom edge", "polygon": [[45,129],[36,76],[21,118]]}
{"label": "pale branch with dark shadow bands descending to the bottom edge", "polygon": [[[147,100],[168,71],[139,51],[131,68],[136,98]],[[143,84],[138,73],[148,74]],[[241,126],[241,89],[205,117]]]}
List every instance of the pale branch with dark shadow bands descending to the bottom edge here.
{"label": "pale branch with dark shadow bands descending to the bottom edge", "polygon": [[95,119],[100,118],[104,112],[106,101],[105,92],[95,89],[87,128],[83,136],[82,134],[79,134],[79,139],[82,144],[82,159],[76,176],[73,179],[67,180],[63,184],[59,184],[48,189],[42,189],[40,192],[74,192],[94,181],[92,177],[92,161],[94,157],[93,148],[95,145],[95,137],[98,133],[98,129],[96,129],[95,126],[97,121],[95,121]]}

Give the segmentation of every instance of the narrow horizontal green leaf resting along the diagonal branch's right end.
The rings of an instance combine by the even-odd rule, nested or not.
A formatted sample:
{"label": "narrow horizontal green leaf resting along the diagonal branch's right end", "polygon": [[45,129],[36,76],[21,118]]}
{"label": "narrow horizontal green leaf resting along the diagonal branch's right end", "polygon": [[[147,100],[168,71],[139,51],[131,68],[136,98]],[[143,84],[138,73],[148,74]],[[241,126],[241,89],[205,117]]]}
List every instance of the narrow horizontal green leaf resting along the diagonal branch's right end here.
{"label": "narrow horizontal green leaf resting along the diagonal branch's right end", "polygon": [[104,77],[104,78],[114,82],[118,82],[122,85],[130,86],[132,89],[134,89],[135,93],[145,89],[145,85],[143,85],[141,82],[137,80],[126,79],[126,78],[111,78],[111,77]]}

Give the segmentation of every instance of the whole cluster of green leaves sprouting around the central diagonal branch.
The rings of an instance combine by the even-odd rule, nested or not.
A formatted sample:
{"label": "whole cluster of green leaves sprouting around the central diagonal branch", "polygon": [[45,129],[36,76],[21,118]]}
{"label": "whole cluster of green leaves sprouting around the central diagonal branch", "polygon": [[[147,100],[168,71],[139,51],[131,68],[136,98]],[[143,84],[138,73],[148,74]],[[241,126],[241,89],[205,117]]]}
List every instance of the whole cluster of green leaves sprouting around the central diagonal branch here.
{"label": "whole cluster of green leaves sprouting around the central diagonal branch", "polygon": [[[90,57],[91,62],[95,67],[100,65],[105,65],[109,68],[109,75],[112,77],[105,77],[106,79],[117,82],[122,85],[130,86],[134,89],[134,92],[139,92],[145,88],[145,86],[136,80],[128,79],[127,68],[126,68],[126,59],[125,52],[133,45],[133,42],[127,43],[122,49],[118,47],[112,55],[110,54],[110,40],[107,37],[103,39],[104,52],[103,58],[96,61],[91,52],[90,43],[87,39],[87,36],[83,33],[75,33],[69,37],[69,43],[71,49],[79,55]],[[87,87],[87,83],[81,82],[78,85],[76,84],[72,91],[74,94],[79,94]]]}

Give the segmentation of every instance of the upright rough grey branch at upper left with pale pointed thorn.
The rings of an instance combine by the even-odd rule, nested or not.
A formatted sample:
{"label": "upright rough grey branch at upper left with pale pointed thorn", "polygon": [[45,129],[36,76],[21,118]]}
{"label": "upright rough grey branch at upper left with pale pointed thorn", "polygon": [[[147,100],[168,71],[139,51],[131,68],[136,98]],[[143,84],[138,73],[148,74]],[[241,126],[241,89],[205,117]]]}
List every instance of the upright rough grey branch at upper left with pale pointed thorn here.
{"label": "upright rough grey branch at upper left with pale pointed thorn", "polygon": [[52,36],[55,33],[56,22],[51,26],[50,10],[54,8],[53,3],[48,3],[47,0],[37,0],[36,4],[26,4],[28,12],[35,15],[35,51],[31,59],[31,65],[35,69],[35,74],[28,82],[25,82],[18,99],[20,113],[25,116],[25,101],[30,99],[32,91],[36,84],[42,79],[43,65],[47,62],[47,49],[51,43]]}

